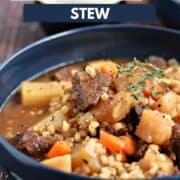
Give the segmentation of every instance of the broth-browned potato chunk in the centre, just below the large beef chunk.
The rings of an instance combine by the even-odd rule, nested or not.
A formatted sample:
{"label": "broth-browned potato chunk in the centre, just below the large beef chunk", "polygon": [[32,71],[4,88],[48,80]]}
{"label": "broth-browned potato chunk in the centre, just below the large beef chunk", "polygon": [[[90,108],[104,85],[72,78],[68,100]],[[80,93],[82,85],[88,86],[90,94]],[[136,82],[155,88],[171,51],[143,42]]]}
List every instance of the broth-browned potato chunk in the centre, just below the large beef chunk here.
{"label": "broth-browned potato chunk in the centre, just below the large beef chunk", "polygon": [[130,112],[132,99],[128,93],[118,93],[113,98],[100,101],[93,109],[92,113],[98,121],[114,123],[126,117]]}

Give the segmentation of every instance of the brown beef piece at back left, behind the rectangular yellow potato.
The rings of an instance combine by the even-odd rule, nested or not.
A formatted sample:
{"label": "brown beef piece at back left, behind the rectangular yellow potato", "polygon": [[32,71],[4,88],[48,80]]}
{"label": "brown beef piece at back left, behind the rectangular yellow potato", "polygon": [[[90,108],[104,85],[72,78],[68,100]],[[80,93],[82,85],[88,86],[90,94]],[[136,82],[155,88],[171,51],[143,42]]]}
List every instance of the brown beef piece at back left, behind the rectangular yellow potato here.
{"label": "brown beef piece at back left, behind the rectangular yellow potato", "polygon": [[52,75],[51,79],[56,81],[72,81],[72,71],[82,71],[83,68],[83,66],[76,65],[61,68]]}

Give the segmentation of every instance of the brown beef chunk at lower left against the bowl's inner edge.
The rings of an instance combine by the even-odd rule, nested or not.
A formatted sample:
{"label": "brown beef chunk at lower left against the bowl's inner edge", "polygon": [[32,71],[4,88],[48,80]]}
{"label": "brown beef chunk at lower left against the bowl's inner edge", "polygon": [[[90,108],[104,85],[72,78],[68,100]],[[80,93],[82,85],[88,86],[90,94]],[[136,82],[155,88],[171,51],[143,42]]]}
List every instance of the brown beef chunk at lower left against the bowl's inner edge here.
{"label": "brown beef chunk at lower left against the bowl's inner edge", "polygon": [[45,153],[54,144],[56,138],[45,138],[33,131],[26,131],[17,135],[11,143],[17,147],[18,150],[36,158],[41,159]]}

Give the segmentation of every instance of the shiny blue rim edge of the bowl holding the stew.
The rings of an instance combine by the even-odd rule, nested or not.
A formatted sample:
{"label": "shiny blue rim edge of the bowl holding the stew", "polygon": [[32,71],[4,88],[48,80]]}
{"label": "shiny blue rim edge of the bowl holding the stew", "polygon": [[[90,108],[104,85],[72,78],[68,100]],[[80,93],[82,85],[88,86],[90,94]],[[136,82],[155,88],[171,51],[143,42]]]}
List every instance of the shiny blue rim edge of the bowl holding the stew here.
{"label": "shiny blue rim edge of the bowl holding the stew", "polygon": [[[171,34],[176,34],[178,36],[180,36],[180,31],[178,30],[174,30],[171,28],[164,28],[164,27],[159,27],[159,26],[152,26],[152,25],[136,25],[136,24],[103,24],[103,25],[95,25],[95,26],[86,26],[86,27],[80,27],[80,28],[75,28],[72,30],[68,30],[68,31],[64,31],[64,32],[60,32],[45,38],[42,38],[30,45],[25,46],[24,48],[22,48],[21,50],[17,51],[16,53],[14,53],[14,55],[12,55],[10,58],[7,58],[5,60],[4,63],[2,63],[2,65],[0,66],[0,71],[2,71],[6,65],[8,65],[11,61],[13,61],[15,58],[17,58],[19,55],[26,53],[27,51],[32,50],[34,47],[37,47],[43,43],[48,43],[49,41],[61,38],[61,37],[65,37],[65,36],[69,36],[69,35],[73,35],[73,34],[78,34],[81,32],[91,32],[94,30],[113,30],[113,29],[139,29],[139,30],[154,30],[154,31],[159,31],[159,32],[166,32],[166,33],[171,33]],[[0,136],[0,141],[3,142],[3,146],[5,148],[5,150],[13,157],[15,158],[15,160],[19,161],[21,164],[26,164],[28,166],[33,166],[36,169],[41,169],[41,170],[48,170],[54,173],[60,173],[60,174],[64,174],[66,176],[69,177],[78,177],[78,178],[84,178],[84,179],[90,179],[90,177],[88,176],[82,176],[82,175],[78,175],[78,174],[74,174],[74,173],[66,173],[63,171],[59,171],[53,168],[49,168],[47,166],[44,166],[43,164],[35,161],[34,159],[32,159],[31,157],[28,157],[27,155],[25,155],[24,153],[22,153],[21,151],[17,150],[14,146],[12,146],[7,140],[5,140],[3,137]],[[16,156],[15,156],[16,155]],[[23,161],[25,160],[25,162]],[[177,176],[168,176],[168,177],[177,177]],[[166,177],[166,178],[168,178]],[[178,176],[179,177],[179,176]]]}

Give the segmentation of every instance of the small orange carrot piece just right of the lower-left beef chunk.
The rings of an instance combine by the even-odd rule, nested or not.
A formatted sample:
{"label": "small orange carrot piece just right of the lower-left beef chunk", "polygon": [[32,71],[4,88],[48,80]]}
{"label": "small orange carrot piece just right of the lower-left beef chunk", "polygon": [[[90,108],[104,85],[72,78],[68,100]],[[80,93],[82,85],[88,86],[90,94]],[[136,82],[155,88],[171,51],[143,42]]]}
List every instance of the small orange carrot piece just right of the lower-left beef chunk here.
{"label": "small orange carrot piece just right of the lower-left beef chunk", "polygon": [[71,148],[64,141],[56,141],[55,144],[49,150],[47,157],[53,158],[56,156],[62,156],[65,154],[69,154],[71,152]]}

